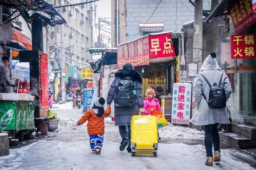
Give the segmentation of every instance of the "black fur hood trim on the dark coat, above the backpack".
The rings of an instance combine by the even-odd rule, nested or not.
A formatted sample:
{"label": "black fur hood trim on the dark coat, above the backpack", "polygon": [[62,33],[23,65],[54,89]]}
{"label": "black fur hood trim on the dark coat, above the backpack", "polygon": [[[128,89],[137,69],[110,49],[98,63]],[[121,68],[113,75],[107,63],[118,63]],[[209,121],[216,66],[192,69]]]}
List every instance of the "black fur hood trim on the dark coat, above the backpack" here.
{"label": "black fur hood trim on the dark coat, above the backpack", "polygon": [[135,70],[127,70],[127,69],[120,69],[115,73],[115,77],[125,78],[125,77],[131,77],[134,80],[137,80],[142,83],[142,76],[139,72]]}

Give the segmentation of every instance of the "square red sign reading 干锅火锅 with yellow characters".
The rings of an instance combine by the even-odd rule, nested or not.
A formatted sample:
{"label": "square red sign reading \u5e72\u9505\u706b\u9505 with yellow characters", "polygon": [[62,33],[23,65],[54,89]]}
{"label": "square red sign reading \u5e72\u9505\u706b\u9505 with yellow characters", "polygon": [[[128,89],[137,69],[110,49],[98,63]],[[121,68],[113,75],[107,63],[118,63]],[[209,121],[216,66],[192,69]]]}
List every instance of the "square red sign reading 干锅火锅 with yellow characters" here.
{"label": "square red sign reading \u5e72\u9505\u706b\u9505 with yellow characters", "polygon": [[231,35],[231,59],[256,58],[256,34]]}

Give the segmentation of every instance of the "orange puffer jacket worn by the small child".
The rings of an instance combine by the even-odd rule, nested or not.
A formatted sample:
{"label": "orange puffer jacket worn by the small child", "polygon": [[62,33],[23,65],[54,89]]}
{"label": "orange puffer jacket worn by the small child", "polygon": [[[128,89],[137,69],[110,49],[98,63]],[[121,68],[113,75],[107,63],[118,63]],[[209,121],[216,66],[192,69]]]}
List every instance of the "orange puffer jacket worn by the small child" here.
{"label": "orange puffer jacket worn by the small child", "polygon": [[104,114],[98,117],[92,109],[88,109],[78,121],[78,124],[82,125],[88,120],[88,135],[103,135],[105,129],[104,117],[108,117],[110,112],[111,109],[106,109]]}

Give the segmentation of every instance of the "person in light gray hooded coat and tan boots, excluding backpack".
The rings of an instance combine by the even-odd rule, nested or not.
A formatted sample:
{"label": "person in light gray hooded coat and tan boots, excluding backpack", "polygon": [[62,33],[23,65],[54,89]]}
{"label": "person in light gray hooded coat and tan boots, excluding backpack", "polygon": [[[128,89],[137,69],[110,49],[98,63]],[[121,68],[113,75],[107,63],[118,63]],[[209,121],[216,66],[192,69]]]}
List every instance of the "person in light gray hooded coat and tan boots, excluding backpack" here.
{"label": "person in light gray hooded coat and tan boots, excluding backpack", "polygon": [[[210,84],[218,84],[222,75],[220,66],[215,59],[216,54],[211,53],[203,62],[200,68],[200,74],[203,74]],[[197,74],[195,80],[194,94],[195,101],[198,107],[197,113],[192,117],[190,122],[194,125],[204,126],[204,144],[206,149],[206,162],[208,166],[212,166],[213,160],[220,161],[220,136],[218,134],[218,124],[229,124],[229,115],[227,107],[221,109],[210,108],[202,96],[202,92],[208,98],[210,86],[202,75]],[[232,92],[228,76],[224,73],[220,86],[224,88],[226,94],[226,101]],[[214,145],[214,159],[212,154],[212,144]]]}

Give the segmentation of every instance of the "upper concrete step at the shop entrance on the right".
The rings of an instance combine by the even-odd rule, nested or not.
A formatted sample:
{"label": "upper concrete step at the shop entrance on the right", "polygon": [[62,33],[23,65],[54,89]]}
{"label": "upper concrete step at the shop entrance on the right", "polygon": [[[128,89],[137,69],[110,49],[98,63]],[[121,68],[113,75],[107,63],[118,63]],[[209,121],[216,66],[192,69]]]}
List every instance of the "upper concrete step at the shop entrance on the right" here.
{"label": "upper concrete step at the shop entrance on the right", "polygon": [[256,140],[256,126],[245,125],[241,123],[231,123],[231,131],[245,137],[248,137],[252,140]]}

